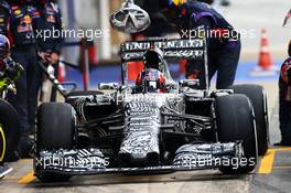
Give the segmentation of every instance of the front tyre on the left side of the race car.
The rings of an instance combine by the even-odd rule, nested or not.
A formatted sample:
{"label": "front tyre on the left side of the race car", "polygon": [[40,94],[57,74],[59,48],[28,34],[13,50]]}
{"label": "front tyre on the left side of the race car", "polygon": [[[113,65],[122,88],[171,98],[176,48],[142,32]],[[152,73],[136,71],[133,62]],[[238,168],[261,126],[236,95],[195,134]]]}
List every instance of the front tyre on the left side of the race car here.
{"label": "front tyre on the left side of the race car", "polygon": [[[69,104],[46,103],[37,110],[36,158],[41,150],[73,149],[77,143],[75,110]],[[68,181],[71,175],[47,172],[35,165],[42,182]]]}

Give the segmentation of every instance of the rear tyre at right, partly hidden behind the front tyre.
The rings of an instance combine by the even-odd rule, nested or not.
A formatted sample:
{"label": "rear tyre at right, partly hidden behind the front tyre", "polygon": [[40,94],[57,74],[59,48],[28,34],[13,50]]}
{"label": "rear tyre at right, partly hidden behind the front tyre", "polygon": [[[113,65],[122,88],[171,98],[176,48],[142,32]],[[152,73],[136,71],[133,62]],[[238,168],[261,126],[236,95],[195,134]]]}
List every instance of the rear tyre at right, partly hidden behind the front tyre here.
{"label": "rear tyre at right, partly hidden behind the front tyre", "polygon": [[229,88],[235,94],[244,94],[250,99],[256,116],[258,153],[259,156],[263,156],[270,143],[268,103],[263,87],[259,85],[235,85]]}

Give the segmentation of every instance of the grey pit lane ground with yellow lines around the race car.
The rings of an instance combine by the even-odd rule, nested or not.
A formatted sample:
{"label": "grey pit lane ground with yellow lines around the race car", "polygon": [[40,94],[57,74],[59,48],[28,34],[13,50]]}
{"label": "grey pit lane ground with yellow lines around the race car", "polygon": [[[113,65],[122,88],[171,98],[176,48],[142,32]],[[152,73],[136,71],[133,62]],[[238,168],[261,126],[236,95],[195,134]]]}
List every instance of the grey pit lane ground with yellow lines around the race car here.
{"label": "grey pit lane ground with yellow lines around the race car", "polygon": [[[271,143],[279,141],[277,83],[265,83],[269,97]],[[159,175],[104,174],[76,176],[67,183],[43,184],[33,176],[32,160],[11,163],[13,172],[0,181],[0,193],[220,193],[290,192],[291,148],[271,147],[252,174],[222,175],[218,171]]]}

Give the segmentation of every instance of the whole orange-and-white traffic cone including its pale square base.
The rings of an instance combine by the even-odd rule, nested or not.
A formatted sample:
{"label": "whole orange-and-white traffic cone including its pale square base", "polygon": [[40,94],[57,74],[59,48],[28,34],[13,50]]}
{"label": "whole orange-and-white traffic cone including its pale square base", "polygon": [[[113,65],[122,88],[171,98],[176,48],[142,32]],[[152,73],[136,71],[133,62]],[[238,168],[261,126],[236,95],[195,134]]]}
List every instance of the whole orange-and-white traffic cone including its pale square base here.
{"label": "whole orange-and-white traffic cone including its pale square base", "polygon": [[267,31],[262,29],[258,65],[249,74],[251,76],[276,76],[278,71],[279,68],[273,65],[271,60]]}

